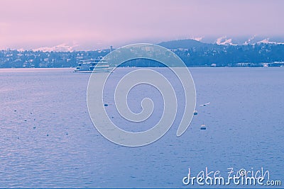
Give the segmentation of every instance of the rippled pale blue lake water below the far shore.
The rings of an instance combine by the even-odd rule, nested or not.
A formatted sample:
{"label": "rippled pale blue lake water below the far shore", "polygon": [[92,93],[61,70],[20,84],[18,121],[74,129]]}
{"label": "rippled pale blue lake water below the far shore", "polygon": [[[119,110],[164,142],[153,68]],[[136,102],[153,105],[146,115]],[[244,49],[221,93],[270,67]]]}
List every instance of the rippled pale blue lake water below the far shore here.
{"label": "rippled pale blue lake water below the far shore", "polygon": [[[130,70],[116,71],[107,93]],[[263,167],[271,180],[284,182],[284,68],[190,71],[199,114],[187,132],[175,136],[178,116],[157,142],[130,148],[109,142],[93,127],[86,102],[89,74],[72,69],[1,69],[0,187],[192,188],[182,184],[188,167],[197,175],[206,166],[223,176],[230,167]],[[165,74],[179,85],[173,74]],[[133,89],[129,104],[138,112],[139,99],[152,97],[160,107],[154,118],[138,127],[124,125],[125,130],[147,130],[159,118],[161,96],[152,89]],[[111,98],[106,101],[114,122],[125,122],[111,109]],[[208,106],[199,106],[208,101]],[[207,130],[200,130],[202,123]]]}

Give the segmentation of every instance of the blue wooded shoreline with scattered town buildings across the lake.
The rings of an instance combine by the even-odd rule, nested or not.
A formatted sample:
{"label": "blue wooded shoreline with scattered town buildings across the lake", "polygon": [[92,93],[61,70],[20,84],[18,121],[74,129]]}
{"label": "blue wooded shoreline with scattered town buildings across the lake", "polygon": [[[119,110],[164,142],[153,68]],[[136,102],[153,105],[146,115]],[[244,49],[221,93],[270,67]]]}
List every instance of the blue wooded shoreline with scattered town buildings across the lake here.
{"label": "blue wooded shoreline with scattered town buildings across the lake", "polygon": [[[253,45],[217,45],[196,40],[161,42],[175,52],[187,67],[283,67],[284,45],[258,43]],[[34,50],[1,50],[0,68],[76,67],[83,59],[104,57],[111,50],[74,52],[43,52]],[[129,65],[128,65],[129,66]],[[133,67],[155,67],[136,61]]]}

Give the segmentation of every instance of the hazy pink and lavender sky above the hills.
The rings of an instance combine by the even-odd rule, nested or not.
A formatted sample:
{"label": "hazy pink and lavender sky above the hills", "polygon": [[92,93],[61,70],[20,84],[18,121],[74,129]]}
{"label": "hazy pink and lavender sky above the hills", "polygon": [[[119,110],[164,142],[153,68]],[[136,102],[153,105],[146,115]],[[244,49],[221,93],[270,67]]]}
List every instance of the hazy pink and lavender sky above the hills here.
{"label": "hazy pink and lavender sky above the hills", "polygon": [[0,49],[284,35],[284,1],[0,1]]}

